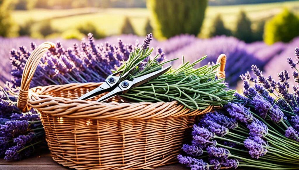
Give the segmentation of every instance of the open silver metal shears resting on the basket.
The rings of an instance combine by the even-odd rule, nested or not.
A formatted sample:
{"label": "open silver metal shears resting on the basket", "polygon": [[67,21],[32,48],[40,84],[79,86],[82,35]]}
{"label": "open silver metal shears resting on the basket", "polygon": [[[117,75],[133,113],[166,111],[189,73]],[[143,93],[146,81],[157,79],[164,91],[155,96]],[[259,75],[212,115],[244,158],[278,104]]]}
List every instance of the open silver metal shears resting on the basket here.
{"label": "open silver metal shears resting on the basket", "polygon": [[100,99],[97,100],[97,102],[106,101],[114,96],[128,92],[130,88],[135,88],[139,85],[144,84],[145,82],[148,82],[149,80],[161,76],[162,74],[166,73],[171,67],[172,66],[170,65],[158,71],[153,71],[149,74],[145,74],[143,76],[133,78],[132,81],[128,79],[122,80],[123,77],[126,77],[126,75],[132,71],[132,69],[123,75],[121,75],[123,71],[118,71],[114,74],[109,75],[106,78],[105,82],[103,82],[103,84],[101,84],[99,87],[95,88],[92,91],[89,91],[88,93],[84,94],[78,99],[79,100],[91,99],[99,94],[109,91],[109,93],[105,94],[104,96],[100,97]]}

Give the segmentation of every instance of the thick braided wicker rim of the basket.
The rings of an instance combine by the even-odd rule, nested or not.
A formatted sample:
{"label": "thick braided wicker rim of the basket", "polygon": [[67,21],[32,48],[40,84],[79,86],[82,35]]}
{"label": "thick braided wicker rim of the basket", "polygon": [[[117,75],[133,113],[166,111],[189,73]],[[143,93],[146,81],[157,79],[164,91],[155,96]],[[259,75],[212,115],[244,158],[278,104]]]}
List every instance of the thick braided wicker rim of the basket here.
{"label": "thick braided wicker rim of the basket", "polygon": [[105,103],[45,95],[49,92],[98,87],[101,84],[102,82],[70,83],[30,88],[28,93],[28,106],[35,108],[40,113],[56,117],[116,120],[198,116],[213,109],[213,106],[209,106],[203,110],[189,110],[185,108],[184,105],[178,104],[177,101],[155,103]]}

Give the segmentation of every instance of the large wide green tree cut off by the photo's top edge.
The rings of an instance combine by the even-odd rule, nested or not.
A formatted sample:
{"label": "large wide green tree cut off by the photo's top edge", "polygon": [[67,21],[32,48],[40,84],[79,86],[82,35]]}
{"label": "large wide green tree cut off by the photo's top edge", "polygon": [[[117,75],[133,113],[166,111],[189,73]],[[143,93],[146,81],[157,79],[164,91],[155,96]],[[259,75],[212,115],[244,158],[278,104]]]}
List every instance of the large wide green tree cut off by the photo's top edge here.
{"label": "large wide green tree cut off by the photo's top edge", "polygon": [[166,38],[200,32],[207,0],[148,0],[155,35]]}

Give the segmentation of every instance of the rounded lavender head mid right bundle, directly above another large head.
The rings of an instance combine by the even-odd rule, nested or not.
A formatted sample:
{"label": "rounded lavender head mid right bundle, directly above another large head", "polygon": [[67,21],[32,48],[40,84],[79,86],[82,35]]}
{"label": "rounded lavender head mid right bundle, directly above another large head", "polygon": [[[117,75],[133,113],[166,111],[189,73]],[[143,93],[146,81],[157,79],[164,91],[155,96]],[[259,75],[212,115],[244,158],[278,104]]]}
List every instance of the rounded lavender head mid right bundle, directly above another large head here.
{"label": "rounded lavender head mid right bundle, directly above another large head", "polygon": [[251,124],[247,125],[249,135],[263,137],[268,134],[268,127],[262,121],[254,118]]}

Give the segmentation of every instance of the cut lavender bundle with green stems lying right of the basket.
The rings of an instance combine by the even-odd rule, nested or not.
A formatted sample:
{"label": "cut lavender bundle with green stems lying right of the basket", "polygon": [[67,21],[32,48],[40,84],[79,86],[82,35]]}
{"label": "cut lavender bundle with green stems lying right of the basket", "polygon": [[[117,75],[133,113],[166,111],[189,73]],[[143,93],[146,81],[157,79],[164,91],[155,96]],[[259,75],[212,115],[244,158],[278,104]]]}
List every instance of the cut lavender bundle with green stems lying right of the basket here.
{"label": "cut lavender bundle with green stems lying right of the basket", "polygon": [[[287,62],[297,75],[297,63],[291,58]],[[191,157],[179,155],[180,163],[200,170],[299,169],[298,85],[294,85],[293,92],[289,90],[285,70],[278,73],[278,81],[266,78],[255,65],[252,71],[256,78],[248,72],[240,76],[243,95],[236,93],[222,110],[206,114],[198,126],[194,125],[192,145],[182,148]]]}

